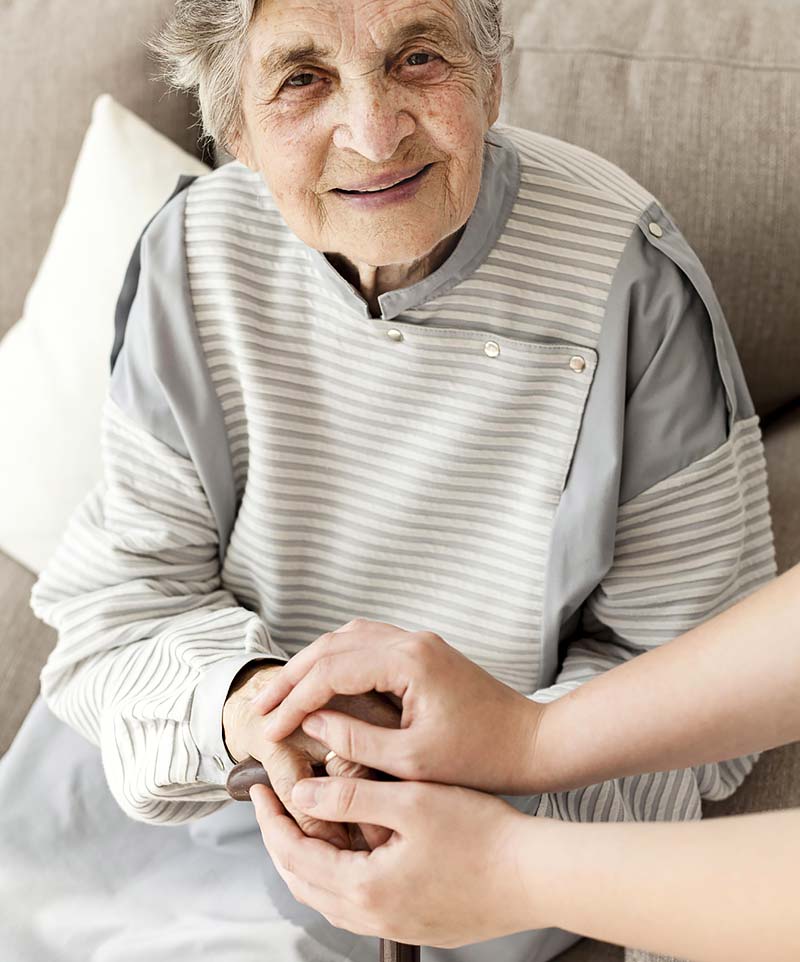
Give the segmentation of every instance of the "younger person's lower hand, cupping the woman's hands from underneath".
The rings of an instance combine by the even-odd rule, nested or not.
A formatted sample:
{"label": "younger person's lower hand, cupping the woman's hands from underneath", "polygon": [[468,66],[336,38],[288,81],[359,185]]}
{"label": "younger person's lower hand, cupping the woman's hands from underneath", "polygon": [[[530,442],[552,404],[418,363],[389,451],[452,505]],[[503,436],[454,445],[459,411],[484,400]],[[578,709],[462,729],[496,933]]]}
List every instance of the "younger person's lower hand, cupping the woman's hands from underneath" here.
{"label": "younger person's lower hand, cupping the woman's hands from underneath", "polygon": [[254,785],[250,797],[264,845],[294,897],[339,928],[453,948],[548,924],[537,917],[535,893],[521,882],[517,860],[532,857],[531,831],[543,837],[558,823],[445,785],[299,782],[292,797],[304,812],[394,830],[372,852],[340,852],[306,838],[270,789]]}

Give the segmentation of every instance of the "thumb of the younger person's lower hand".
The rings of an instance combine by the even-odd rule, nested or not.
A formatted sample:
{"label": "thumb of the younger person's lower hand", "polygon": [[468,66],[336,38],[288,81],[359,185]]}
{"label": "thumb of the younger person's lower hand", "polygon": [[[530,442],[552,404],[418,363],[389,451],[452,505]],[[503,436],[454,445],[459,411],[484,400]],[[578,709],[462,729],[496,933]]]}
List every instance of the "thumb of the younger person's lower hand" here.
{"label": "thumb of the younger person's lower hand", "polygon": [[304,778],[292,789],[292,803],[323,821],[367,822],[405,832],[414,813],[421,811],[417,803],[420,790],[411,782]]}

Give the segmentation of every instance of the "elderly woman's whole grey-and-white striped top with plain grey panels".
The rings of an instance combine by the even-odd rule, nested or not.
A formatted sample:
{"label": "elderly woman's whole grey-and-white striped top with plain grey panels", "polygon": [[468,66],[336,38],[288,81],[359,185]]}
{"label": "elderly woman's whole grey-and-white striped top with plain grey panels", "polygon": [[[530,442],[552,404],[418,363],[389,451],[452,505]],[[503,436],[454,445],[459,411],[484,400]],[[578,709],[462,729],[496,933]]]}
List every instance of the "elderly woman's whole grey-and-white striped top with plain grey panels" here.
{"label": "elderly woman's whole grey-and-white striped top with plain grey panels", "polygon": [[[774,574],[724,317],[618,168],[495,126],[455,250],[379,304],[235,161],[145,231],[104,479],[31,596],[59,630],[43,696],[133,818],[225,804],[236,672],[351,618],[435,631],[546,701]],[[537,811],[694,817],[751,764]]]}

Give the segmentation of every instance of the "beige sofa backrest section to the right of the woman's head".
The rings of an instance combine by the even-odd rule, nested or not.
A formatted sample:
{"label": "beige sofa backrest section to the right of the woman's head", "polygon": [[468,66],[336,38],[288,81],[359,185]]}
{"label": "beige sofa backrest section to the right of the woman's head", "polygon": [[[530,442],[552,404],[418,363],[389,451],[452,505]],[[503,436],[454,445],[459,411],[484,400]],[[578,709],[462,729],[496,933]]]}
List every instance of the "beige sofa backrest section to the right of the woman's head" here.
{"label": "beige sofa backrest section to the right of the woman's head", "polygon": [[800,398],[800,0],[505,0],[510,124],[613,160],[703,261],[756,408]]}

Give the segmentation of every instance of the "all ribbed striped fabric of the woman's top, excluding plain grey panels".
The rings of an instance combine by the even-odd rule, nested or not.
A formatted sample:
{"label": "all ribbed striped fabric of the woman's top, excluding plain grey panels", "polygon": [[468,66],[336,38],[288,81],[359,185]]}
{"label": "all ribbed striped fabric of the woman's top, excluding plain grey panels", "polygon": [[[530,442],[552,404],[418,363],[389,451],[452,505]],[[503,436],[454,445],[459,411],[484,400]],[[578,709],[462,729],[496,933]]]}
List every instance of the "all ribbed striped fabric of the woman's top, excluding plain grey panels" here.
{"label": "all ribbed striped fabric of the woman's top, excluding plain grey panels", "polygon": [[[203,672],[231,655],[292,654],[362,616],[437,631],[528,695],[542,684],[554,512],[614,272],[652,198],[570,145],[523,131],[513,139],[521,190],[489,256],[391,322],[357,315],[310,269],[259,175],[234,162],[189,188],[190,292],[239,503],[224,566],[192,463],[108,399],[105,480],[31,596],[59,629],[43,695],[101,745],[133,817],[187,821],[227,800],[197,780],[188,715]],[[570,365],[576,354],[583,370]],[[747,423],[624,505],[614,567],[587,606],[592,637],[572,646],[537,699],[764,580],[765,492]],[[673,537],[679,506],[688,523],[687,499],[706,562],[700,541],[682,554]],[[747,760],[728,764],[542,796],[538,811],[696,817],[698,793],[732,790],[748,770]]]}

